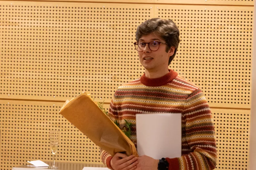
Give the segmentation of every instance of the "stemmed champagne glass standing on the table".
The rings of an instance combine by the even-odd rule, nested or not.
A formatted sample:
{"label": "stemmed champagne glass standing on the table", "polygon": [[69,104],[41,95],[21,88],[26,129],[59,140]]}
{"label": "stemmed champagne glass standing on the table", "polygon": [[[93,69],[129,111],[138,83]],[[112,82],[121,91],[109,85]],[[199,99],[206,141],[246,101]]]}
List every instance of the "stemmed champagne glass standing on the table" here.
{"label": "stemmed champagne glass standing on the table", "polygon": [[53,153],[53,165],[49,166],[50,169],[57,169],[55,166],[55,153],[57,152],[57,148],[59,146],[59,130],[50,130],[50,146]]}

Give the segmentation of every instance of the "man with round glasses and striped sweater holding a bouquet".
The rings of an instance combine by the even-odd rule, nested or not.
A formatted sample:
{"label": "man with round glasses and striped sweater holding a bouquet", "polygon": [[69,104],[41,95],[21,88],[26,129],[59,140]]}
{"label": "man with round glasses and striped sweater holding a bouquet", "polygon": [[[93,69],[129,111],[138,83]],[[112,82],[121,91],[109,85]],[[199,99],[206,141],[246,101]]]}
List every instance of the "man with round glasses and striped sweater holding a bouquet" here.
{"label": "man with round glasses and striped sweater holding a bouquet", "polygon": [[[210,107],[203,92],[168,65],[173,60],[179,30],[171,20],[153,18],[138,26],[135,48],[145,73],[117,88],[109,115],[120,126],[133,124],[130,139],[136,142],[136,113],[182,113],[182,156],[156,160],[101,149],[102,162],[114,170],[212,170],[216,166],[216,140]],[[180,129],[177,129],[180,130]]]}

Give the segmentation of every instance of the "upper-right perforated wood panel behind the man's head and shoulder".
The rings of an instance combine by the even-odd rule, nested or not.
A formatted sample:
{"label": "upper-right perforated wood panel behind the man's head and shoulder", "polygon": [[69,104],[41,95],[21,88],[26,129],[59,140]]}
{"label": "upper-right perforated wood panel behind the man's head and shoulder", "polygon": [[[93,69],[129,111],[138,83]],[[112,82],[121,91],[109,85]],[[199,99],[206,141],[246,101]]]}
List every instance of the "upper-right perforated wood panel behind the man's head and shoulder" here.
{"label": "upper-right perforated wood panel behind the man's head and shoulder", "polygon": [[211,107],[250,108],[253,7],[155,5],[181,30],[171,68],[197,84]]}

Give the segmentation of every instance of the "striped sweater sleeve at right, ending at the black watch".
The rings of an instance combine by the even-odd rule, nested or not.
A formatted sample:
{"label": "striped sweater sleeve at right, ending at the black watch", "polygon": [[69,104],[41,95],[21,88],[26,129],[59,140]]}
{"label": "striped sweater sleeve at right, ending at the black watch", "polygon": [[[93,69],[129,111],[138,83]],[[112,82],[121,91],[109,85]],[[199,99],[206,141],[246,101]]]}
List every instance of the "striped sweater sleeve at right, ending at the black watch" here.
{"label": "striped sweater sleeve at right, ending at the black watch", "polygon": [[191,152],[179,158],[166,158],[169,170],[213,170],[217,159],[215,130],[210,107],[200,89],[187,97],[182,116]]}

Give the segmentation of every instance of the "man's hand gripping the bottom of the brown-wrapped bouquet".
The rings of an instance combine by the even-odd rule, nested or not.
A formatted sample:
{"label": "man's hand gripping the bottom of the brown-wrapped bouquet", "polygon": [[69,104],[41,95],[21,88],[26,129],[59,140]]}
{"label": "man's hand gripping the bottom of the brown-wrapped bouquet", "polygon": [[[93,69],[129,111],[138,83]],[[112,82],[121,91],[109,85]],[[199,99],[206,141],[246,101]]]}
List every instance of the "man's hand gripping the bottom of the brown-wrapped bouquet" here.
{"label": "man's hand gripping the bottom of the brown-wrapped bouquet", "polygon": [[126,156],[123,153],[116,153],[110,161],[110,165],[114,170],[134,170],[138,158],[134,155]]}

